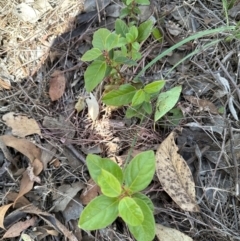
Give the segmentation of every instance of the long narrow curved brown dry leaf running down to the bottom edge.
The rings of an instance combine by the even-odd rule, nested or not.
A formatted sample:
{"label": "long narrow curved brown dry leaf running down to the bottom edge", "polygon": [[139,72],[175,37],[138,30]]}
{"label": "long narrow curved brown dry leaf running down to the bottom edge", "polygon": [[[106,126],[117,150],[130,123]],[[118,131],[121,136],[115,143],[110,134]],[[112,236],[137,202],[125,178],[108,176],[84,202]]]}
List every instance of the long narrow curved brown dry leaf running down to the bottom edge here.
{"label": "long narrow curved brown dry leaf running down to the bottom edge", "polygon": [[50,225],[57,231],[61,231],[61,233],[64,234],[65,237],[69,239],[69,241],[78,241],[76,236],[72,234],[61,222],[59,222],[58,219],[56,219],[53,215],[47,212],[43,212],[34,205],[25,206],[23,208],[20,208],[19,211],[38,215],[46,223],[48,223],[48,225]]}

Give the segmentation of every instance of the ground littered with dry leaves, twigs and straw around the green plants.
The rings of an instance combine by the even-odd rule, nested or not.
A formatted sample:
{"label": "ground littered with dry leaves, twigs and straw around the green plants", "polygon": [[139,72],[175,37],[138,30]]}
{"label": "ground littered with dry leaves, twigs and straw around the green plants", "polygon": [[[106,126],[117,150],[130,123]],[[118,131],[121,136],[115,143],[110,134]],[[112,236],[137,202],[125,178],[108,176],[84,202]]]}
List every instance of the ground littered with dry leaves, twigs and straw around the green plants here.
{"label": "ground littered with dry leaves, twigs and straw around the green plants", "polygon": [[[78,228],[79,214],[100,192],[90,179],[86,156],[111,157],[121,165],[129,151],[156,151],[175,130],[179,154],[193,175],[200,212],[180,209],[155,175],[144,193],[154,203],[156,223],[196,241],[240,240],[239,41],[227,41],[228,32],[200,37],[157,61],[142,76],[146,82],[165,79],[165,90],[182,85],[176,105],[181,115],[168,113],[155,124],[153,115],[142,123],[126,119],[125,107],[106,107],[96,91],[100,112],[93,122],[87,106],[79,113],[75,109],[79,99],[89,97],[83,78],[87,63],[80,58],[91,47],[94,31],[113,30],[115,18],[105,10],[119,1],[102,8],[97,1],[96,11],[85,13],[79,0],[49,0],[35,22],[19,16],[23,10],[16,6],[22,2],[0,0],[1,237],[134,240],[120,218],[99,231]],[[150,9],[164,40],[149,37],[135,71],[183,38],[227,25],[220,0],[153,0]],[[227,13],[229,25],[236,25],[240,3],[235,1]],[[205,47],[215,40],[219,41]],[[64,94],[52,101],[49,86],[56,75],[63,78]]]}

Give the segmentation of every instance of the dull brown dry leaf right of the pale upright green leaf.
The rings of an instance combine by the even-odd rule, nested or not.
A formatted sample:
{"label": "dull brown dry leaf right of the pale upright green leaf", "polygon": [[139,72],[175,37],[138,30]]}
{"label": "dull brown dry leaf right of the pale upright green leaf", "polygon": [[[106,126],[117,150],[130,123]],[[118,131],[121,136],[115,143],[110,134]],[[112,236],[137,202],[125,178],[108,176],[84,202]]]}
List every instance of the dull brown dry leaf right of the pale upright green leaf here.
{"label": "dull brown dry leaf right of the pale upright green leaf", "polygon": [[217,107],[209,100],[199,99],[195,96],[184,95],[184,98],[188,100],[191,104],[198,107],[200,111],[209,111],[210,113],[217,115],[218,109]]}

